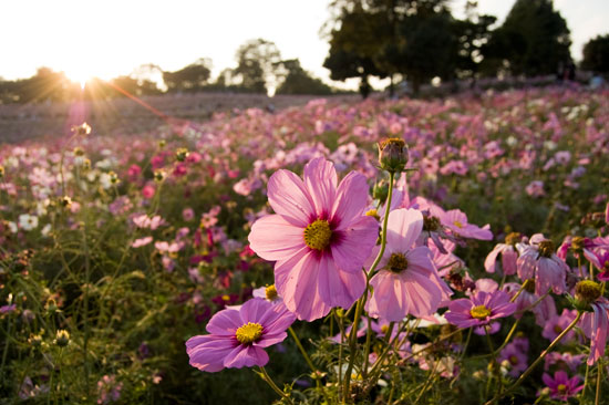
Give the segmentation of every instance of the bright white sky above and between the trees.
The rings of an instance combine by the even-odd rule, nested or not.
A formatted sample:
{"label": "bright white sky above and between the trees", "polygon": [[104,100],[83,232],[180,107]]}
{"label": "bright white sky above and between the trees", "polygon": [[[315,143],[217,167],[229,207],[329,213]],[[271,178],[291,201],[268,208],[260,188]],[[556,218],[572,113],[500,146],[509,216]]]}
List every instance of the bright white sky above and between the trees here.
{"label": "bright white sky above and between the trees", "polygon": [[[213,75],[234,68],[249,39],[272,41],[285,59],[328,81],[327,41],[319,31],[330,0],[19,0],[0,3],[0,77],[29,77],[39,66],[74,80],[111,79],[154,63],[165,71],[210,58]],[[452,0],[456,17],[465,0]],[[478,0],[503,21],[514,0]],[[581,59],[590,38],[609,33],[609,0],[555,0]]]}

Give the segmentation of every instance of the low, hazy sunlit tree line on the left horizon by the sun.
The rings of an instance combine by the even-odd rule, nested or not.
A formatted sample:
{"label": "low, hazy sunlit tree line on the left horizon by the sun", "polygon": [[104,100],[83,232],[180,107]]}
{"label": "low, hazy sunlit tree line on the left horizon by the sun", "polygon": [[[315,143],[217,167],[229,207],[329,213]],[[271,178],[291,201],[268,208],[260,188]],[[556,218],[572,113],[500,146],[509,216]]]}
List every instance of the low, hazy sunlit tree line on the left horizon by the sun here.
{"label": "low, hazy sunlit tree line on the left horizon by the sun", "polygon": [[200,91],[313,95],[340,92],[306,71],[298,59],[282,59],[277,45],[264,39],[250,40],[239,46],[236,60],[235,69],[223,70],[215,80],[211,80],[211,60],[200,58],[173,72],[148,63],[136,68],[130,75],[109,81],[93,77],[86,82],[85,89],[71,81],[64,72],[39,68],[28,79],[0,80],[0,104]]}

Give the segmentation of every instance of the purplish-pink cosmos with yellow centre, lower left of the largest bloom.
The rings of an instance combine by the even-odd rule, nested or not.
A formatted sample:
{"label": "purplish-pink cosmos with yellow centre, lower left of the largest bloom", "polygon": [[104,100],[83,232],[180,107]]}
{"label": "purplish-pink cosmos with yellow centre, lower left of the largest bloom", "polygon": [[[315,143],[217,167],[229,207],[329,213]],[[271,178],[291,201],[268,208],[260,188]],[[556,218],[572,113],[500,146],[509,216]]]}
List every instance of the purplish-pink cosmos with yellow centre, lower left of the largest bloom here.
{"label": "purplish-pink cosmos with yellow centre, lower left of the largest bloom", "polygon": [[282,342],[295,321],[283,304],[251,299],[239,310],[225,309],[207,323],[207,335],[186,342],[190,365],[200,371],[217,372],[225,367],[264,366],[269,356],[265,347]]}

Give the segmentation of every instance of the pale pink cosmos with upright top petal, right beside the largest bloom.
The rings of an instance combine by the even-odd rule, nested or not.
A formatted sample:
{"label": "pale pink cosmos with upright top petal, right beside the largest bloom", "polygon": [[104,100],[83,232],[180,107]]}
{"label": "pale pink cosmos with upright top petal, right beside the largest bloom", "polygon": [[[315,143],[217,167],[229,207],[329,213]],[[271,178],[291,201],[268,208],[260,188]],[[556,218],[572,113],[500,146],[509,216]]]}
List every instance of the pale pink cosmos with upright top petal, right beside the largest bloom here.
{"label": "pale pink cosmos with upright top petal, right beside the largest bloom", "polygon": [[416,209],[401,208],[389,214],[381,270],[370,280],[374,291],[367,303],[370,315],[394,322],[409,313],[416,318],[431,315],[452,294],[437,274],[430,249],[415,246],[422,229],[423,215]]}

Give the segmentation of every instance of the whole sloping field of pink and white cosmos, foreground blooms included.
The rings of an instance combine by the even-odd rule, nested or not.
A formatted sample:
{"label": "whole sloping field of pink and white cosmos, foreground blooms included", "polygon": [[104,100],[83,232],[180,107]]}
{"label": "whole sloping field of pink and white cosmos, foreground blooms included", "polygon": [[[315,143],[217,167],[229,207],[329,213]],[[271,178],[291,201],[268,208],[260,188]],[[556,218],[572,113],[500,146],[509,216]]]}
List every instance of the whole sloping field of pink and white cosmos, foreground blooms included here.
{"label": "whole sloping field of pink and white cosmos, foreground blooms included", "polygon": [[0,404],[601,404],[607,156],[577,87],[2,145]]}

